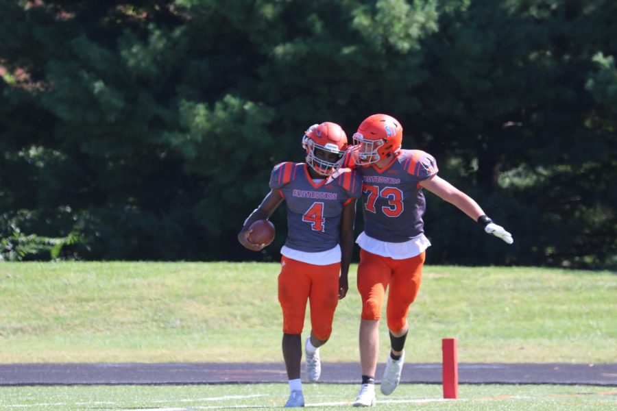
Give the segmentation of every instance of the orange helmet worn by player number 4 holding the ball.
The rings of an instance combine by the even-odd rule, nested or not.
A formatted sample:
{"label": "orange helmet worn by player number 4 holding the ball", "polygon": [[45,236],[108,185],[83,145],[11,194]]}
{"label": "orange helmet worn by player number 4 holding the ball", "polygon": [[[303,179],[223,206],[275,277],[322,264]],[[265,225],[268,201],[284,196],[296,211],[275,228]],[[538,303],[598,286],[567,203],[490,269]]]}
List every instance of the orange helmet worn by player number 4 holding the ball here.
{"label": "orange helmet worn by player number 4 holding the ball", "polygon": [[311,125],[302,138],[306,164],[324,176],[334,173],[343,163],[347,147],[347,135],[341,126],[329,121]]}

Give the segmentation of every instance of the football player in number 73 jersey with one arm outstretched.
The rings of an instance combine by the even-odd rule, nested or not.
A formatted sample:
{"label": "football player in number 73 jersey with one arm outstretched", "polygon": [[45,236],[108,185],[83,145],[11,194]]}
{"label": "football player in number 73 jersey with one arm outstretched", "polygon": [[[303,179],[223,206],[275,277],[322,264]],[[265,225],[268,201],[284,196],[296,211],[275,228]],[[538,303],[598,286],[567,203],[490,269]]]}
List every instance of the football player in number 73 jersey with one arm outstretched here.
{"label": "football player in number 73 jersey with one arm outstretched", "polygon": [[398,386],[407,337],[407,313],[420,281],[424,253],[431,243],[424,236],[422,215],[426,189],[480,223],[489,234],[512,244],[512,236],[493,223],[478,203],[437,175],[437,162],[421,150],[403,150],[402,127],[394,117],[374,114],[353,136],[354,145],[343,166],[354,166],[363,180],[364,232],[360,245],[357,286],[362,299],[360,361],[362,385],[354,406],[374,406],[378,358],[378,325],[387,289],[387,324],[391,350],[381,379],[381,392]]}

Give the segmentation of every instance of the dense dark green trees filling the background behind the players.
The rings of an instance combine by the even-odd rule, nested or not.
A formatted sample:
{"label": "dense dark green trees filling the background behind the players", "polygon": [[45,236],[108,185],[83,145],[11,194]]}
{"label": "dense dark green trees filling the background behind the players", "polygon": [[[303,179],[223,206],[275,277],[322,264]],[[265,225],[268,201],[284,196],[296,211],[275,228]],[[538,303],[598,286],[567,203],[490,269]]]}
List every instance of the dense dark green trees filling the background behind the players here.
{"label": "dense dark green trees filling the background behind the players", "polygon": [[350,136],[387,112],[404,126],[404,148],[435,155],[440,175],[514,234],[506,247],[429,199],[435,262],[617,268],[614,1],[2,10],[0,212],[32,216],[0,227],[7,244],[16,230],[73,233],[71,258],[276,259],[280,211],[263,253],[236,240],[271,167],[302,161],[313,123]]}

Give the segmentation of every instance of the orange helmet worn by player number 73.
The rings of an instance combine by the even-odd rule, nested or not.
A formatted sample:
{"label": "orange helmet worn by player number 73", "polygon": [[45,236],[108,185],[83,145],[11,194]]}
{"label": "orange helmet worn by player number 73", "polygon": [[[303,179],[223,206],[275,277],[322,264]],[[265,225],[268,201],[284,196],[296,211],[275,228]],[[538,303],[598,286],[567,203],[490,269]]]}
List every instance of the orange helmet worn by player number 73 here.
{"label": "orange helmet worn by player number 73", "polygon": [[402,125],[387,114],[373,114],[360,123],[353,141],[356,164],[373,164],[400,150]]}

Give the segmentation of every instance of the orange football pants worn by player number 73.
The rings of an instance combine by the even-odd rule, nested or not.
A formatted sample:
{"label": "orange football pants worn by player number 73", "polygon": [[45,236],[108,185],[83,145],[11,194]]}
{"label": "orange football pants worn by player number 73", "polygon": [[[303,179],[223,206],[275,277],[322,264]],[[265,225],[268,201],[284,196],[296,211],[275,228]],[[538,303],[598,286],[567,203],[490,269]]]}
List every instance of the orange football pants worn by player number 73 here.
{"label": "orange football pants worn by player number 73", "polygon": [[362,298],[363,320],[381,319],[383,299],[389,286],[388,328],[398,332],[404,327],[409,306],[420,289],[425,256],[423,252],[412,258],[394,260],[360,249],[358,291]]}

